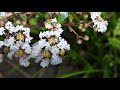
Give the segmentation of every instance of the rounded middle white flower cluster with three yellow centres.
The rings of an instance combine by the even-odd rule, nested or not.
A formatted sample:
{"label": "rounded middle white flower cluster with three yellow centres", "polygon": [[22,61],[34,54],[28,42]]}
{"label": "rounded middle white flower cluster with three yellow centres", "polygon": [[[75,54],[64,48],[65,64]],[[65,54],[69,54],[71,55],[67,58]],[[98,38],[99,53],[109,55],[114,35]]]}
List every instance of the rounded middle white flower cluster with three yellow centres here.
{"label": "rounded middle white flower cluster with three yellow centres", "polygon": [[62,56],[65,51],[70,49],[70,45],[60,37],[63,32],[62,28],[57,30],[45,31],[39,34],[40,40],[32,46],[31,56],[35,62],[41,61],[42,67],[48,66],[49,63],[57,65],[62,63]]}

